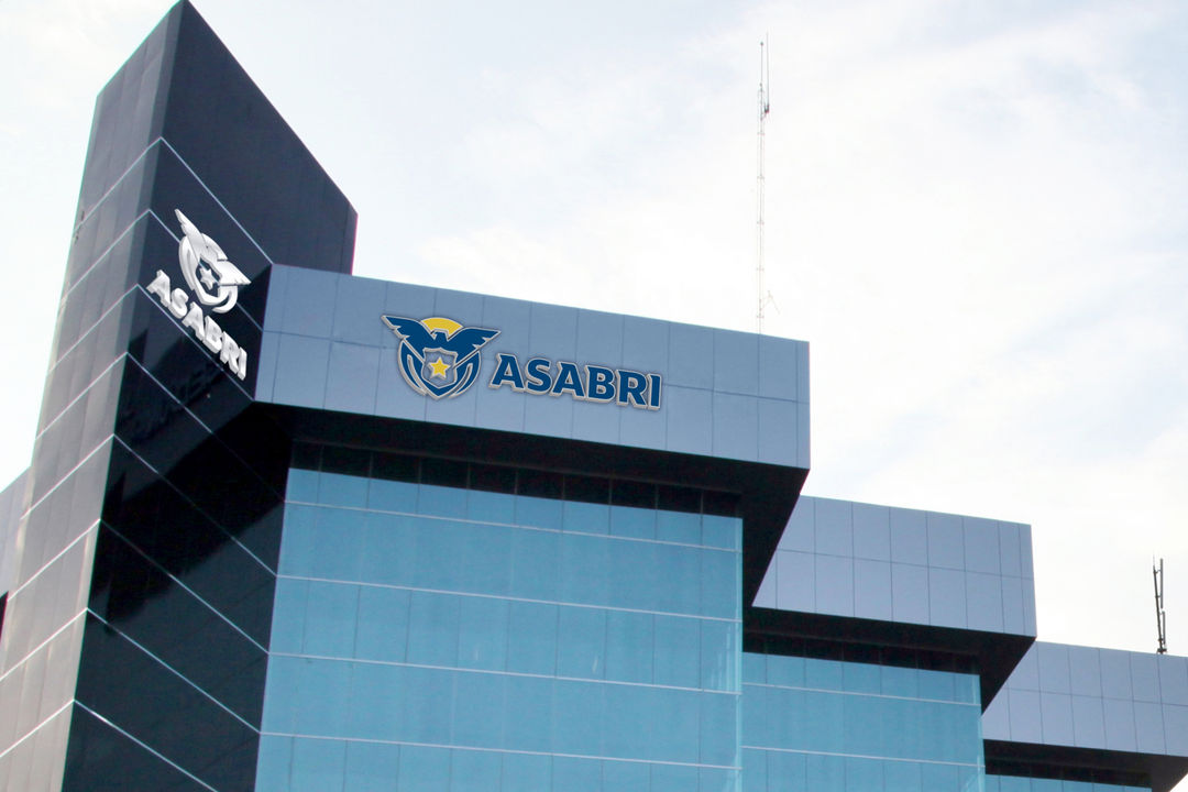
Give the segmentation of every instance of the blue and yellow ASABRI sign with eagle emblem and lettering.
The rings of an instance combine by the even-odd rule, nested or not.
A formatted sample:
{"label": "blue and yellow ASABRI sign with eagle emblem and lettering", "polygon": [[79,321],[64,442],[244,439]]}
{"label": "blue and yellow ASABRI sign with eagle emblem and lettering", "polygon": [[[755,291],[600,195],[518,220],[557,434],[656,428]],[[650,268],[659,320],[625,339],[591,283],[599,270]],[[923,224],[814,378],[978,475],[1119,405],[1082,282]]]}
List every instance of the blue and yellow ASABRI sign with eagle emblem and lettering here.
{"label": "blue and yellow ASABRI sign with eagle emblem and lettering", "polygon": [[[499,335],[499,330],[467,328],[442,316],[380,318],[400,340],[397,357],[404,381],[434,399],[465,393],[479,375],[482,365],[479,350]],[[498,391],[505,385],[518,393],[568,394],[581,401],[640,410],[661,407],[661,375],[626,368],[580,366],[548,357],[532,357],[520,366],[516,355],[499,353],[487,387]]]}

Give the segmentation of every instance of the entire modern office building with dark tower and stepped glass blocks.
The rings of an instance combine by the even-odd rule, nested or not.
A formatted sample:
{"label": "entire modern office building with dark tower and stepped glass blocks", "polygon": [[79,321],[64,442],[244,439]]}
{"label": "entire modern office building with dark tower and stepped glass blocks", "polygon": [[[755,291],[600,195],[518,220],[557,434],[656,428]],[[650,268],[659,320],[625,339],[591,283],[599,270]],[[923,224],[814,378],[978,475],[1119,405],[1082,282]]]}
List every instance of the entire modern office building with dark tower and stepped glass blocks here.
{"label": "entire modern office building with dark tower and stepped glass blocks", "polygon": [[800,494],[805,343],[356,278],[354,227],[188,4],[101,93],[0,790],[1188,772],[1188,661],[1036,642],[1028,526]]}

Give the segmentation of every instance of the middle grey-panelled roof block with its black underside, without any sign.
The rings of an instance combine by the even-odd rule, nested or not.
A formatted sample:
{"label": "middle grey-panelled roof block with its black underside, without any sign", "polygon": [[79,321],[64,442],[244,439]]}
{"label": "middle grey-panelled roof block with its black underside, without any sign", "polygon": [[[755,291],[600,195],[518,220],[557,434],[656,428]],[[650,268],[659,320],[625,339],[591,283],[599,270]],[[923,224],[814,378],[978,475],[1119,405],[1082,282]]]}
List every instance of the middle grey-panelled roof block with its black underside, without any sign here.
{"label": "middle grey-panelled roof block with its black underside, without any sign", "polygon": [[1035,641],[1031,530],[801,496],[744,629],[965,657],[985,707]]}

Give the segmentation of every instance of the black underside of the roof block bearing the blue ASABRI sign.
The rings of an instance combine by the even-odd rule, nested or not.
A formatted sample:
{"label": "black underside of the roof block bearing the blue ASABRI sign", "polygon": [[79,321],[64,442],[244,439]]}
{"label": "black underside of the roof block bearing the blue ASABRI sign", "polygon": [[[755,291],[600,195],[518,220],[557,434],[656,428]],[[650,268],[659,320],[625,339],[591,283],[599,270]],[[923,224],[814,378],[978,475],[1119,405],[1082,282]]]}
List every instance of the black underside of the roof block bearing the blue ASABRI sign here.
{"label": "black underside of the roof block bearing the blue ASABRI sign", "polygon": [[750,602],[758,591],[808,475],[807,470],[783,465],[519,432],[299,407],[272,406],[270,411],[297,442],[733,493],[744,525],[744,602]]}

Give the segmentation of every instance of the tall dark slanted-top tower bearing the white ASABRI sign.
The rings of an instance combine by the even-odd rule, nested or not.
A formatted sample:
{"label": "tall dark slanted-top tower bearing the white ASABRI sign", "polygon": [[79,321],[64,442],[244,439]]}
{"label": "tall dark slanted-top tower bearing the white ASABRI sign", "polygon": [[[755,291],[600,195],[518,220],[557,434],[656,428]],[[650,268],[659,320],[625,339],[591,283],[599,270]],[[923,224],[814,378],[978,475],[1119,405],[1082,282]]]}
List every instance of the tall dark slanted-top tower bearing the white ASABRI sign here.
{"label": "tall dark slanted-top tower bearing the white ASABRI sign", "polygon": [[[185,291],[175,210],[251,281],[222,312],[191,285],[201,324],[148,291]],[[354,230],[188,2],[100,94],[0,641],[0,790],[252,788],[289,443],[252,401],[264,297],[273,261],[349,272]]]}

